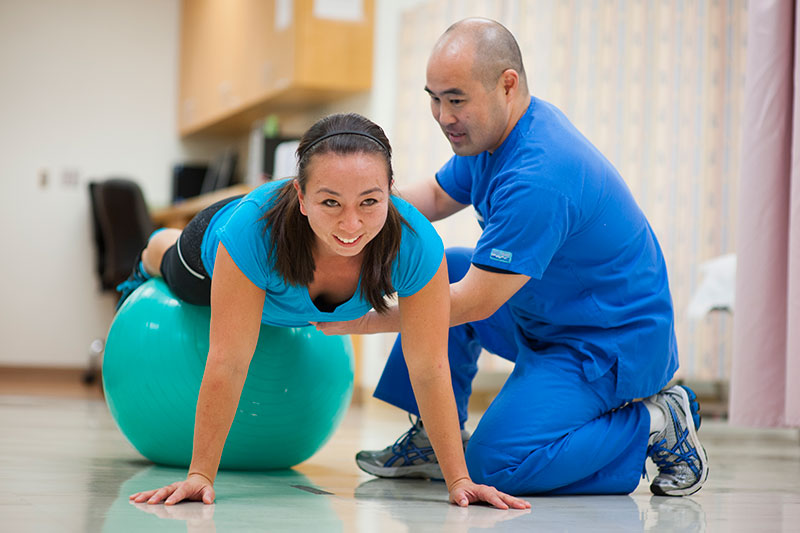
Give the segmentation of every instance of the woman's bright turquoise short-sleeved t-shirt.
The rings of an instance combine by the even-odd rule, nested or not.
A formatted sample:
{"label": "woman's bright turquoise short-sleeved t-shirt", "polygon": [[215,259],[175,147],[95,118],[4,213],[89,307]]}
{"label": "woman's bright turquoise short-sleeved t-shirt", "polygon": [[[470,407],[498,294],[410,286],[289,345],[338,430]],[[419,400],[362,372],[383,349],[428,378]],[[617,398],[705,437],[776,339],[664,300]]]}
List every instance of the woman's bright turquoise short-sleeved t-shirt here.
{"label": "woman's bright turquoise short-sleeved t-shirt", "polygon": [[[264,231],[266,222],[261,217],[271,207],[273,194],[285,183],[286,180],[265,183],[214,215],[203,236],[201,257],[206,271],[213,278],[217,246],[222,242],[244,275],[266,291],[261,315],[264,324],[298,327],[309,322],[354,320],[364,315],[371,306],[360,290],[333,311],[320,311],[307,287],[289,285],[275,270],[269,257],[269,231]],[[412,231],[403,225],[400,250],[392,263],[392,285],[398,296],[411,296],[436,274],[444,245],[428,219],[411,204],[395,196],[392,203],[413,228]]]}

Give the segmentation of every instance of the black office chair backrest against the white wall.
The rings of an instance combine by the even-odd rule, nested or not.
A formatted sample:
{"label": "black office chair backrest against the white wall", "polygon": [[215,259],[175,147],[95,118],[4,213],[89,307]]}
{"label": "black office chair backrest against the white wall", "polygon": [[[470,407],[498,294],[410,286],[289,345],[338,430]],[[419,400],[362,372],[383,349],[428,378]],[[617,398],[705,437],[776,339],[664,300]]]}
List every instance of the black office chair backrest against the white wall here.
{"label": "black office chair backrest against the white wall", "polygon": [[133,269],[154,225],[139,185],[124,178],[89,183],[97,247],[97,274],[112,290]]}

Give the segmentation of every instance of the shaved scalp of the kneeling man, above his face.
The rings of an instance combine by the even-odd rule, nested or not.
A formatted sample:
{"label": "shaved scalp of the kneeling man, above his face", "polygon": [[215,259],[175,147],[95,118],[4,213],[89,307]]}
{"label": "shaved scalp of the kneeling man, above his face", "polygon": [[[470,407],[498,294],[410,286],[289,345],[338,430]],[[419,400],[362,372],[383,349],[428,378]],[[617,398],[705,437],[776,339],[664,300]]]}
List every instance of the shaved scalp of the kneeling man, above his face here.
{"label": "shaved scalp of the kneeling man, above his face", "polygon": [[528,83],[517,40],[505,26],[494,20],[468,18],[447,28],[433,47],[433,55],[468,53],[473,57],[472,72],[488,89],[495,86],[507,69],[519,74],[520,86],[527,93]]}

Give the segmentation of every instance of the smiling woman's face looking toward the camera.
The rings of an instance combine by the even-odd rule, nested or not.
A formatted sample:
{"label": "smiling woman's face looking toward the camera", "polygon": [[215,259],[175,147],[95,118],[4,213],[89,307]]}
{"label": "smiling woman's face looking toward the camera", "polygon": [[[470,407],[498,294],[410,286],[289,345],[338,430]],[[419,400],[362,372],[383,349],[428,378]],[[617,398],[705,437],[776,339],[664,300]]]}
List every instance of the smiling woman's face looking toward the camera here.
{"label": "smiling woman's face looking toward the camera", "polygon": [[312,156],[305,192],[295,181],[300,211],[322,254],[354,257],[383,228],[389,209],[386,160],[375,153]]}

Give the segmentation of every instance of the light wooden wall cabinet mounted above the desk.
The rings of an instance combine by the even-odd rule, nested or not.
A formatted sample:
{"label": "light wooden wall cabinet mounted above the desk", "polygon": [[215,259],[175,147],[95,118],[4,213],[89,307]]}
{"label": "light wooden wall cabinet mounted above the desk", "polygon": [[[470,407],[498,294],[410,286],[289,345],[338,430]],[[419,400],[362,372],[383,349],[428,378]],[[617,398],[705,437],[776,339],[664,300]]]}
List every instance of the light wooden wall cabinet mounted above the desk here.
{"label": "light wooden wall cabinet mounted above the desk", "polygon": [[355,1],[356,20],[319,16],[315,1],[183,0],[180,134],[244,133],[271,112],[368,90],[373,0]]}

